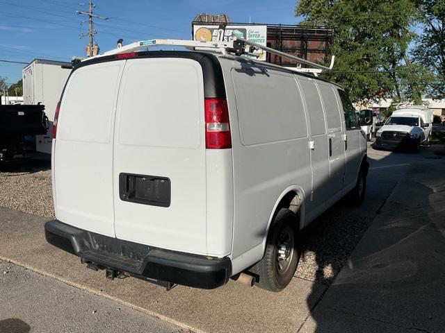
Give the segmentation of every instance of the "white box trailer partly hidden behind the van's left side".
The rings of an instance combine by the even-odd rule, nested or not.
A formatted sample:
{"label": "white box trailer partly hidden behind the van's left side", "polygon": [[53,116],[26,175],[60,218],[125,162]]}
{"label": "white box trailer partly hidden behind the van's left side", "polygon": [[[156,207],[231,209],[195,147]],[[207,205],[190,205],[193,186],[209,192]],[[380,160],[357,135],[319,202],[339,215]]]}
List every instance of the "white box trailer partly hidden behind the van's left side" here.
{"label": "white box trailer partly hidden behind the van's left side", "polygon": [[40,153],[51,153],[54,112],[71,69],[71,62],[34,59],[22,71],[24,103],[43,104],[49,121],[47,134],[35,137],[35,150]]}

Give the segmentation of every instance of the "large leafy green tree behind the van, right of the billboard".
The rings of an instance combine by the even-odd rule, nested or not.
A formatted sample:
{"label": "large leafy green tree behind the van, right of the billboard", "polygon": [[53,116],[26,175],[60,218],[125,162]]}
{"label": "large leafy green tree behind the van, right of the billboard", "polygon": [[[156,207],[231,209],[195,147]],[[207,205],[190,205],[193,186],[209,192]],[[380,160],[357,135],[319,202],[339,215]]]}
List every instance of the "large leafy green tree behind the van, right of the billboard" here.
{"label": "large leafy green tree behind the van, right of the billboard", "polygon": [[[411,81],[415,76],[416,83],[423,82],[423,71],[403,65],[415,37],[417,12],[412,0],[300,0],[296,4],[296,15],[305,17],[303,24],[334,28],[330,51],[336,62],[324,76],[342,85],[353,101],[369,101],[381,92],[398,99],[405,94],[420,96],[423,85]],[[406,84],[411,88],[406,89]]]}

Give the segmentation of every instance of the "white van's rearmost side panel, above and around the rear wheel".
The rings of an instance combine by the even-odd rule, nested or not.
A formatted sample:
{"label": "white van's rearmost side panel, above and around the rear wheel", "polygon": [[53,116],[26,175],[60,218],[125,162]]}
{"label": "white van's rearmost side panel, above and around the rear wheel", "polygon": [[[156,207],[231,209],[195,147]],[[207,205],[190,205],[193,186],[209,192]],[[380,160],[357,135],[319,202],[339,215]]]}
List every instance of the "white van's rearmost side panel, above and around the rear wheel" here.
{"label": "white van's rearmost side panel, above and around the rear wheel", "polygon": [[[243,256],[246,267],[264,254],[266,230],[282,191],[290,185],[311,190],[307,120],[293,74],[221,62],[234,155],[232,261]],[[248,252],[253,248],[255,253]]]}

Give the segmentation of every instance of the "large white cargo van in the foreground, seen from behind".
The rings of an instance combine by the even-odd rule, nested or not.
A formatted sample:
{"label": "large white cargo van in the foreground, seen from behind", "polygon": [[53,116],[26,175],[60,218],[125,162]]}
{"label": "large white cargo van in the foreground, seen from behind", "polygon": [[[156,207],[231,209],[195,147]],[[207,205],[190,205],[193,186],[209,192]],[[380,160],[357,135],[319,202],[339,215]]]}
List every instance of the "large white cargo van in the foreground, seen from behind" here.
{"label": "large white cargo van in the foreground, seen from behind", "polygon": [[74,68],[56,114],[47,241],[108,278],[212,289],[241,273],[280,291],[298,230],[364,197],[366,139],[346,93],[280,66],[99,56]]}

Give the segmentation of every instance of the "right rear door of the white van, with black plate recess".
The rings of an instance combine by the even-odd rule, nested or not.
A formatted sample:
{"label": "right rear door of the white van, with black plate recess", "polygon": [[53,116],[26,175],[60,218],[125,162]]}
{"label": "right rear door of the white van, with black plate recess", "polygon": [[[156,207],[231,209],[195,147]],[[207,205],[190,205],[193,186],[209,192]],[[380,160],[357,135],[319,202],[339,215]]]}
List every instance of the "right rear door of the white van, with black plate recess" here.
{"label": "right rear door of the white van, with black plate recess", "polygon": [[206,254],[204,138],[200,64],[127,60],[115,121],[116,237]]}

